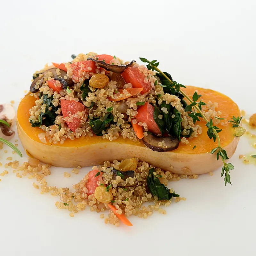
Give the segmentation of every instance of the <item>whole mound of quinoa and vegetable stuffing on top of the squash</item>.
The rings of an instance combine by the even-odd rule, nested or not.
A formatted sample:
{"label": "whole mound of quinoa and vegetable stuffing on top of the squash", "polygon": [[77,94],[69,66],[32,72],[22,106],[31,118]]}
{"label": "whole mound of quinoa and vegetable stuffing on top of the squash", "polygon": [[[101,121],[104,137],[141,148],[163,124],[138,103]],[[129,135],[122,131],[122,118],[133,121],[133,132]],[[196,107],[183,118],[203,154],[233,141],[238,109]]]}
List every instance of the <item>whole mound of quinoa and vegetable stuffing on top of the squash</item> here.
{"label": "whole mound of quinoa and vegetable stuffing on top of the squash", "polygon": [[[45,65],[33,75],[30,91],[37,100],[29,111],[29,121],[42,129],[38,137],[43,143],[63,144],[67,139],[94,135],[110,141],[120,136],[136,141],[152,133],[163,135],[161,120],[166,116],[170,116],[172,127],[165,130],[178,138],[176,147],[180,142],[189,144],[188,139],[202,133],[191,111],[185,109],[182,95],[177,90],[167,92],[164,77],[156,71],[136,61],[123,62],[94,52],[72,57],[71,62]],[[202,104],[202,112],[214,124],[221,121],[214,118],[221,115],[215,111],[217,106]],[[147,119],[145,114],[151,117]],[[178,130],[173,128],[175,124]],[[150,148],[174,149],[164,140]]]}

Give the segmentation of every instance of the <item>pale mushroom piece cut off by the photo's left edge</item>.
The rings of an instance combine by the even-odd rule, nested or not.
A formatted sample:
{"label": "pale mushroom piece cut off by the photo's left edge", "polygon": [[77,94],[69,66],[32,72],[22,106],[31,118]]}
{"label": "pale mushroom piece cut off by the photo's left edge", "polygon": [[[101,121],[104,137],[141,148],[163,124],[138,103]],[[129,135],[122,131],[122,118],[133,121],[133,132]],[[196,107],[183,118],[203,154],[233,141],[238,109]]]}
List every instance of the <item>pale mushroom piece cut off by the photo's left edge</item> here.
{"label": "pale mushroom piece cut off by the photo's left edge", "polygon": [[12,130],[12,125],[15,121],[15,110],[10,104],[2,104],[0,105],[0,119],[4,120],[10,127],[6,124],[0,123],[0,137],[5,140],[10,140],[15,132]]}

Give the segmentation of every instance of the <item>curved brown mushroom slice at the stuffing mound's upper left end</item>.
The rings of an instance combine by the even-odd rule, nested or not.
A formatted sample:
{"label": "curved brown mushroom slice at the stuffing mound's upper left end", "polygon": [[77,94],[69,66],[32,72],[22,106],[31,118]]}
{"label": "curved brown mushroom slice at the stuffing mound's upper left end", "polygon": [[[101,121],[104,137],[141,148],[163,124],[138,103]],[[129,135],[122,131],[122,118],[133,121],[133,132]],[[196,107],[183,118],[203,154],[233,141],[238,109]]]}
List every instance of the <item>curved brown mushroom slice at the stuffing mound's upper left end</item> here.
{"label": "curved brown mushroom slice at the stuffing mound's upper left end", "polygon": [[[44,83],[44,77],[48,78],[49,76],[53,77],[53,79],[60,81],[62,84],[62,88],[67,88],[68,86],[73,86],[74,82],[71,78],[67,76],[67,72],[64,70],[61,70],[57,74],[57,68],[50,68],[44,71],[43,76],[39,77],[37,76],[36,79],[32,82],[30,85],[30,92],[38,92],[39,88]],[[67,79],[64,78],[64,76],[67,77]],[[38,85],[38,88],[35,88],[35,86]],[[36,86],[37,87],[37,86]]]}

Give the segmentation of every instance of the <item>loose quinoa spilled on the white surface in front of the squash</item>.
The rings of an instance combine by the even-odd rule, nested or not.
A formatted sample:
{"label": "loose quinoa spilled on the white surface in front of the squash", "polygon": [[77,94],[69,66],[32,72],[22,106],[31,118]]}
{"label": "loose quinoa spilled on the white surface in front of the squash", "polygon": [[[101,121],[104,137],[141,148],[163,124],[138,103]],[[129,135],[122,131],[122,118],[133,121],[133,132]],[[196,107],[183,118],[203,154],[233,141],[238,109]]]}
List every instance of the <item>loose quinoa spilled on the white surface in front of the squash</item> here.
{"label": "loose quinoa spilled on the white surface in front of the squash", "polygon": [[[138,158],[132,158],[132,161],[136,165],[135,176],[134,178],[130,177],[126,180],[122,180],[120,176],[114,178],[112,172],[112,168],[119,170],[121,167],[120,164],[123,161],[114,160],[112,163],[107,161],[99,167],[93,166],[93,170],[102,173],[102,177],[99,176],[97,185],[100,188],[104,188],[103,191],[105,191],[106,186],[112,184],[112,186],[109,186],[108,193],[111,193],[113,199],[109,203],[115,206],[116,213],[118,214],[124,213],[126,217],[134,215],[144,219],[147,219],[154,212],[165,215],[166,211],[163,207],[171,205],[172,199],[158,201],[156,197],[152,196],[147,188],[148,172],[149,169],[154,168],[154,166],[146,162],[141,162]],[[27,176],[28,179],[35,180],[32,185],[40,191],[40,194],[50,193],[52,196],[59,196],[60,200],[56,201],[55,206],[58,209],[68,210],[70,212],[70,217],[74,217],[79,211],[84,211],[88,208],[91,212],[100,213],[100,218],[104,219],[106,224],[110,223],[116,227],[120,225],[120,220],[116,217],[116,214],[109,209],[108,203],[102,203],[95,198],[94,194],[89,194],[86,187],[89,180],[88,174],[86,174],[80,182],[73,185],[72,188],[57,188],[56,186],[49,186],[47,184],[46,178],[48,175],[51,175],[51,165],[49,164],[41,164],[37,159],[29,158],[28,162],[24,162],[15,168],[15,171],[18,171],[16,173],[18,178]],[[76,167],[76,169],[80,168],[80,166]],[[1,176],[4,176],[4,174],[7,173],[7,171],[4,171]],[[154,174],[161,177],[159,180],[165,186],[169,181],[177,181],[180,180],[180,178],[187,178],[187,175],[179,176],[172,172],[164,172],[160,168],[155,168]],[[197,175],[195,175],[195,177],[196,176]],[[127,182],[134,186],[127,187],[124,185],[127,184]],[[171,188],[170,192],[173,193],[175,191]],[[186,198],[175,197],[174,202],[179,202],[180,200],[186,200]]]}

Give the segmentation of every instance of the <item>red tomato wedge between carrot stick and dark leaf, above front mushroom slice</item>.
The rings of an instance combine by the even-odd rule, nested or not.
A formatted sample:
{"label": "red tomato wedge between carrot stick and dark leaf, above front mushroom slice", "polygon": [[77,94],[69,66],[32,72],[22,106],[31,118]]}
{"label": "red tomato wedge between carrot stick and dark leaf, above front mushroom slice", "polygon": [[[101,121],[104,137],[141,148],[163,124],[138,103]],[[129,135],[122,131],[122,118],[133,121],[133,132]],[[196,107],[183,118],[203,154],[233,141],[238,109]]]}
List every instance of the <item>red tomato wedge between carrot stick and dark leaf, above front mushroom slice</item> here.
{"label": "red tomato wedge between carrot stick and dark leaf, above front mushroom slice", "polygon": [[137,111],[137,123],[145,122],[148,125],[148,130],[150,132],[153,132],[156,135],[161,135],[161,131],[154,120],[154,107],[147,102],[144,106],[141,106]]}

